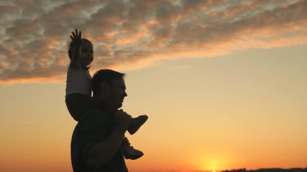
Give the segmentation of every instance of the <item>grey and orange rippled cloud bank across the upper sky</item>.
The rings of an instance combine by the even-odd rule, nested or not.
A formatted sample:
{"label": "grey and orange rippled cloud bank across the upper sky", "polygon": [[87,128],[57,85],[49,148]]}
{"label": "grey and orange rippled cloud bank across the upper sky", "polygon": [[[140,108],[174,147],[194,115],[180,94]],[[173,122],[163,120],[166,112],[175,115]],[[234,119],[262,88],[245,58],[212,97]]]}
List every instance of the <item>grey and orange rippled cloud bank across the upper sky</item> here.
{"label": "grey and orange rippled cloud bank across the upper sky", "polygon": [[132,70],[306,44],[306,11],[306,0],[7,1],[0,4],[0,82],[65,81],[75,28],[94,44],[92,70]]}

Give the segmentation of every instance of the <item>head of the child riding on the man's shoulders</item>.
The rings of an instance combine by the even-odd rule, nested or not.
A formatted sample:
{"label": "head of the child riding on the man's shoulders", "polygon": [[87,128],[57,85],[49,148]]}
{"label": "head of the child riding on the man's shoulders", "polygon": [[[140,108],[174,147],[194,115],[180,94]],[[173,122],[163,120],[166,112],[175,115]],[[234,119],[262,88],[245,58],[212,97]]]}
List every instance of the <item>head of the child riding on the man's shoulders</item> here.
{"label": "head of the child riding on the man's shoulders", "polygon": [[[71,42],[69,45],[68,56],[71,59],[73,56],[74,43]],[[80,54],[80,64],[86,70],[89,69],[89,64],[93,61],[93,44],[87,40],[82,38],[81,44],[81,54]]]}

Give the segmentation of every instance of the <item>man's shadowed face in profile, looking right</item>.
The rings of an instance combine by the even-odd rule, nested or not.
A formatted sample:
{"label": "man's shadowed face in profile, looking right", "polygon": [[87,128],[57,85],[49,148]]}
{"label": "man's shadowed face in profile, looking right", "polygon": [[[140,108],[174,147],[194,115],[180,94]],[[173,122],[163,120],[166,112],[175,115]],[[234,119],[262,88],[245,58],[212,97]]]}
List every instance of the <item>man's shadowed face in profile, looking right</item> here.
{"label": "man's shadowed face in profile, looking right", "polygon": [[124,98],[127,96],[124,79],[113,80],[113,87],[109,90],[109,100],[114,108],[118,109],[123,106]]}

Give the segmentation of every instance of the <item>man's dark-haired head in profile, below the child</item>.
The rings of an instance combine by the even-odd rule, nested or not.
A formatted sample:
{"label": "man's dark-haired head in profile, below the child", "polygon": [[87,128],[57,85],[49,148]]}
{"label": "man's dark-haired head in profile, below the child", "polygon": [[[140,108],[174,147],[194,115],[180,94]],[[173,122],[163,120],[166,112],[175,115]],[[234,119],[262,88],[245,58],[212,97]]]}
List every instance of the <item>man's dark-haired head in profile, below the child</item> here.
{"label": "man's dark-haired head in profile, below the child", "polygon": [[122,107],[127,96],[124,76],[111,69],[98,70],[91,80],[93,96],[108,100],[116,109]]}

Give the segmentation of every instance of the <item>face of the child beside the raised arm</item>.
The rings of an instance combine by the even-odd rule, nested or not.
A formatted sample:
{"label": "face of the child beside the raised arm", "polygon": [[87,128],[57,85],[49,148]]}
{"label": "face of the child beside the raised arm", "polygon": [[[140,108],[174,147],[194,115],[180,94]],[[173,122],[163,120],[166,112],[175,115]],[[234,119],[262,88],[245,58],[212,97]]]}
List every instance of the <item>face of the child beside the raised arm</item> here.
{"label": "face of the child beside the raised arm", "polygon": [[80,63],[84,66],[87,66],[93,61],[93,59],[93,45],[90,42],[84,41],[81,44]]}

